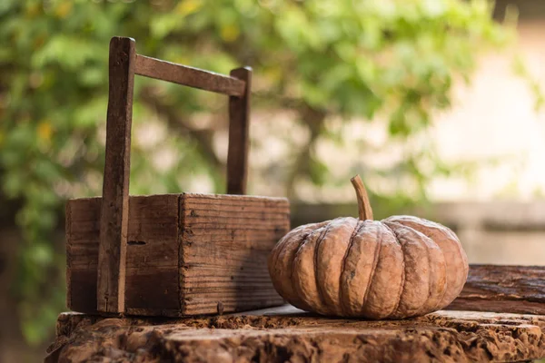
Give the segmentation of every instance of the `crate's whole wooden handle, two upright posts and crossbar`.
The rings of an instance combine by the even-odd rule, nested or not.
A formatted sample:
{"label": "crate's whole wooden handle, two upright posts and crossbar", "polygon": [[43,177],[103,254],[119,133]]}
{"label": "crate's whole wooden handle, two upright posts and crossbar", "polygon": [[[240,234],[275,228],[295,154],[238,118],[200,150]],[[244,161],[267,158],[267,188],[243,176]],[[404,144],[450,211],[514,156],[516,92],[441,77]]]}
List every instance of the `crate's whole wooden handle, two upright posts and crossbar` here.
{"label": "crate's whole wooden handle, two upright posts and crossbar", "polygon": [[110,41],[109,74],[96,305],[101,312],[123,313],[134,74],[229,96],[227,193],[244,194],[252,68],[214,74],[136,54],[134,39],[116,36]]}

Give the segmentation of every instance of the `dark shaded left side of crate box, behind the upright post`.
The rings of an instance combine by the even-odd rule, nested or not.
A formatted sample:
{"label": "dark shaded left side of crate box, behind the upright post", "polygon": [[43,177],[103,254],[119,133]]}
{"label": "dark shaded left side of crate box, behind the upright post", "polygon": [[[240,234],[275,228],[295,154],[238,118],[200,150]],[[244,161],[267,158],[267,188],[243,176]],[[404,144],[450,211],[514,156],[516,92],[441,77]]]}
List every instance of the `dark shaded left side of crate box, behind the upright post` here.
{"label": "dark shaded left side of crate box, behind the upright post", "polygon": [[[132,196],[125,305],[151,311],[180,309],[178,277],[179,195]],[[101,198],[69,201],[66,252],[68,308],[94,312]]]}

